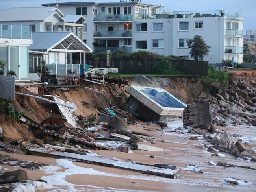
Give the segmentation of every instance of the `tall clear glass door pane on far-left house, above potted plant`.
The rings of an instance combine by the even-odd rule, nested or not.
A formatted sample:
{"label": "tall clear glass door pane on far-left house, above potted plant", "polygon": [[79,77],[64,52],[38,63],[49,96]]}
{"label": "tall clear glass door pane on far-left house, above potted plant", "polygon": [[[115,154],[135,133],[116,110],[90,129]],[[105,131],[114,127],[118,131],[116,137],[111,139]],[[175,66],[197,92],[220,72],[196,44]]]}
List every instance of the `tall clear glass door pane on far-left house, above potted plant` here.
{"label": "tall clear glass door pane on far-left house, above potted plant", "polygon": [[10,70],[16,73],[15,80],[19,80],[19,47],[10,46],[10,55]]}

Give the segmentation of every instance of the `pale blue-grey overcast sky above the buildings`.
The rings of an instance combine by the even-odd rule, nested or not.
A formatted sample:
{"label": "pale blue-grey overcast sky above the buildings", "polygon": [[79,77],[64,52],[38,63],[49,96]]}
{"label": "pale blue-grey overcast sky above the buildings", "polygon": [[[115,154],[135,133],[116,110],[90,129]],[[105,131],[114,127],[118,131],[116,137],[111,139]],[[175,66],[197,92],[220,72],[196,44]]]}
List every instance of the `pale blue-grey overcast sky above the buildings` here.
{"label": "pale blue-grey overcast sky above the buildings", "polygon": [[[119,0],[94,1],[119,2]],[[61,0],[60,2],[93,2],[93,0]],[[256,0],[142,0],[142,2],[162,4],[166,11],[239,11],[244,19],[243,29],[256,29]],[[0,0],[0,11],[11,7],[39,7],[42,3],[56,3],[56,0]]]}

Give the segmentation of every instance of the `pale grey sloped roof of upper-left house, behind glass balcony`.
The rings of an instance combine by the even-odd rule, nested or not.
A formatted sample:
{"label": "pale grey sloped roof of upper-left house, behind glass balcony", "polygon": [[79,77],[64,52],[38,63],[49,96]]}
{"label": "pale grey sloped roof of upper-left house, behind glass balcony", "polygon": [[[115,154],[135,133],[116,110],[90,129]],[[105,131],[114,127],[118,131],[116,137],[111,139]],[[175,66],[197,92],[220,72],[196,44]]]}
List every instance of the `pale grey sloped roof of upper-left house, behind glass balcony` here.
{"label": "pale grey sloped roof of upper-left house, behind glass balcony", "polygon": [[0,21],[43,21],[52,15],[63,19],[63,13],[53,7],[22,7],[0,11]]}

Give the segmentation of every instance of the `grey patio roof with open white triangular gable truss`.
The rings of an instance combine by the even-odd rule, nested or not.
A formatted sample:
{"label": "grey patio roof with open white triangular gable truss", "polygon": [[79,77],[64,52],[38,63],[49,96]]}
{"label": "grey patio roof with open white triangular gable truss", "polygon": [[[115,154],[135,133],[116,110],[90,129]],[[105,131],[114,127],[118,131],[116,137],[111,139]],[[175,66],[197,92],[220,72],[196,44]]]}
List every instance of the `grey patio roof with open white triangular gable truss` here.
{"label": "grey patio roof with open white triangular gable truss", "polygon": [[92,50],[80,40],[72,32],[32,32],[33,44],[29,47],[29,50],[45,50],[49,52],[52,49],[63,49],[69,50],[81,50],[90,51]]}

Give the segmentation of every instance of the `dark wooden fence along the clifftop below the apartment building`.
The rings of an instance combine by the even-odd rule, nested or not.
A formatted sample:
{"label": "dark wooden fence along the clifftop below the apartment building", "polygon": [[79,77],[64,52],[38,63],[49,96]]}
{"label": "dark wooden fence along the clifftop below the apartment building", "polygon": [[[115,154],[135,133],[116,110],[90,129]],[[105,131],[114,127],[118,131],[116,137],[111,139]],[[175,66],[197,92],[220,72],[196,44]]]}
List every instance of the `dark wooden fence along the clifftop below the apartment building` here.
{"label": "dark wooden fence along the clifftop below the apartment building", "polygon": [[[134,61],[120,60],[112,61],[110,68],[118,68],[121,74],[157,74],[157,69],[154,69],[158,61]],[[95,66],[95,61],[86,61],[86,64]],[[184,71],[187,75],[208,76],[208,61],[193,61],[193,60],[170,60],[170,65],[174,68]],[[106,61],[100,61],[98,68],[107,68]]]}

